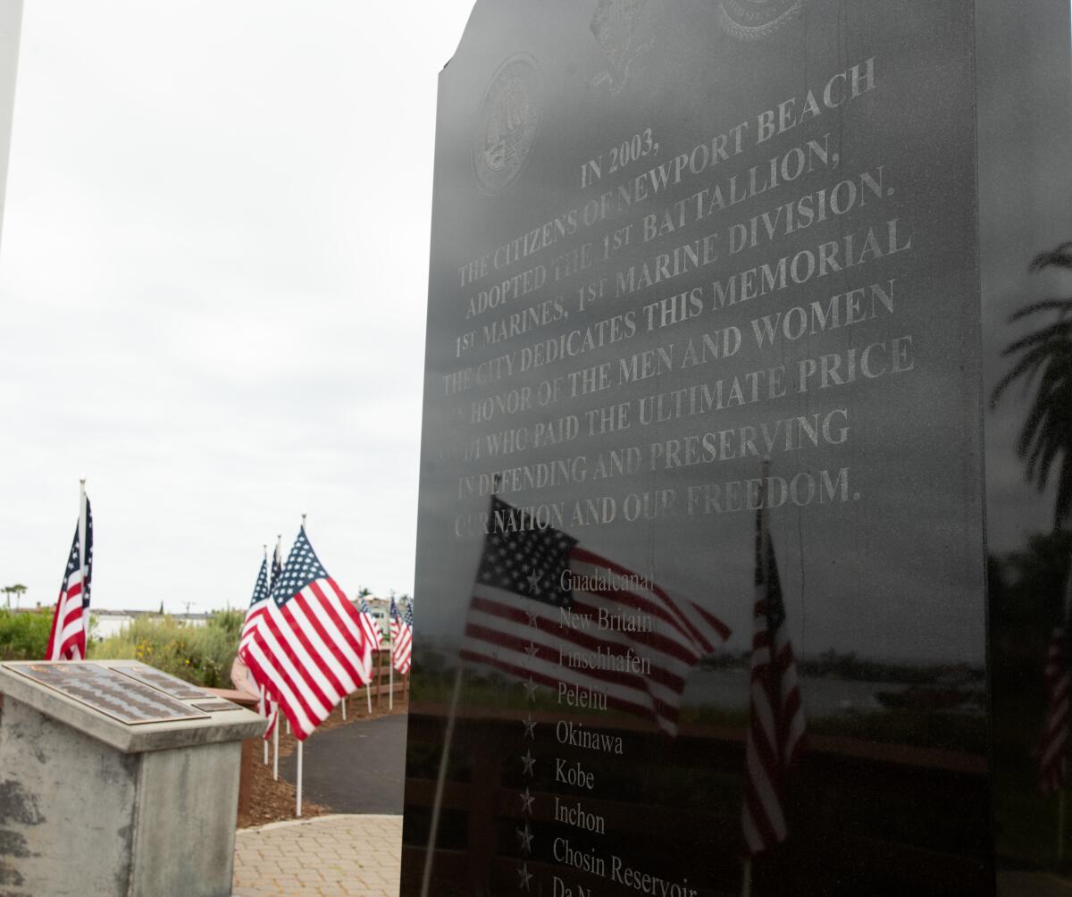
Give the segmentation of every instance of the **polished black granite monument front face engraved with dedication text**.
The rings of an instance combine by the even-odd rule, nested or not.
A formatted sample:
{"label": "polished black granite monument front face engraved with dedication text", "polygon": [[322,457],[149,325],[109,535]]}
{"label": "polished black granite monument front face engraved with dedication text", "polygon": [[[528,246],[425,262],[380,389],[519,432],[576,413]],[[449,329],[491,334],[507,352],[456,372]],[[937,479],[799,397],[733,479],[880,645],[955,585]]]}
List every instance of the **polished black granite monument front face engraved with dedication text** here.
{"label": "polished black granite monument front face engraved with dedication text", "polygon": [[405,897],[994,893],[997,9],[477,4],[440,81]]}

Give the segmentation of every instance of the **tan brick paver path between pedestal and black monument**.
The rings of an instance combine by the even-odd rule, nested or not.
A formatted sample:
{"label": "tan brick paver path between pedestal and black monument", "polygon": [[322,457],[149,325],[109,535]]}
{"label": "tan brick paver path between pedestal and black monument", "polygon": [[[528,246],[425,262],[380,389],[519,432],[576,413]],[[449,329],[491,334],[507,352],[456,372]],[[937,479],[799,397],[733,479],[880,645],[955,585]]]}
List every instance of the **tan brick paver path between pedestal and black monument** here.
{"label": "tan brick paver path between pedestal and black monument", "polygon": [[324,816],[242,828],[235,897],[398,897],[400,816]]}

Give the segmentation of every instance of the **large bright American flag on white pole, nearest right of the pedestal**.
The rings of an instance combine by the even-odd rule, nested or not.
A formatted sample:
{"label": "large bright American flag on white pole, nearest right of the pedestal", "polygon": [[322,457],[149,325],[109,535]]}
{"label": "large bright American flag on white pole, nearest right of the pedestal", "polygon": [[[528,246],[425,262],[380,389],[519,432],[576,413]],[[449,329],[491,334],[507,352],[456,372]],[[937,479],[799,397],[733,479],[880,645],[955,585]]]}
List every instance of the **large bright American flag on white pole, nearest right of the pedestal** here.
{"label": "large bright American flag on white pole, nearest right of the pedestal", "polygon": [[304,527],[239,652],[299,741],[370,681],[372,645],[360,615],[324,569]]}

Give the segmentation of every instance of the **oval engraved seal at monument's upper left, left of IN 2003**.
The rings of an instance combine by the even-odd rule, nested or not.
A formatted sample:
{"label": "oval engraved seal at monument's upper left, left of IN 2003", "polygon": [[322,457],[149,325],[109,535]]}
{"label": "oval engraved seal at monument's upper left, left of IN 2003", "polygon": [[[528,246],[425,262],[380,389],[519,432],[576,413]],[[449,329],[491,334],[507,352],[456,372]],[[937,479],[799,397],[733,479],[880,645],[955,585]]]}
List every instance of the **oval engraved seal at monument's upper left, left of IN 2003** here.
{"label": "oval engraved seal at monument's upper left, left of IN 2003", "polygon": [[544,88],[536,60],[527,54],[507,59],[480,102],[473,146],[473,170],[485,193],[506,190],[521,174],[539,130]]}

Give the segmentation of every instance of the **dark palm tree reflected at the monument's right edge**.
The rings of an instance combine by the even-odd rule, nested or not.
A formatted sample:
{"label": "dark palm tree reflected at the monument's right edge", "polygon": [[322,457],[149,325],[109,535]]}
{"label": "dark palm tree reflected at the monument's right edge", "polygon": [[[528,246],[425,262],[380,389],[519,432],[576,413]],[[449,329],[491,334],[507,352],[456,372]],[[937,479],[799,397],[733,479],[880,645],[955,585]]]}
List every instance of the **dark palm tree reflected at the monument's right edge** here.
{"label": "dark palm tree reflected at the monument's right edge", "polygon": [[[1032,259],[1032,273],[1045,268],[1072,271],[1072,242]],[[1012,315],[1009,323],[1047,312],[1055,312],[1057,319],[1014,340],[1001,353],[1002,357],[1015,356],[1016,360],[994,387],[991,408],[997,406],[1016,380],[1023,382],[1025,394],[1038,384],[1019,431],[1016,452],[1025,461],[1028,481],[1036,483],[1040,492],[1057,465],[1054,527],[1058,528],[1072,517],[1072,297],[1032,302]]]}

